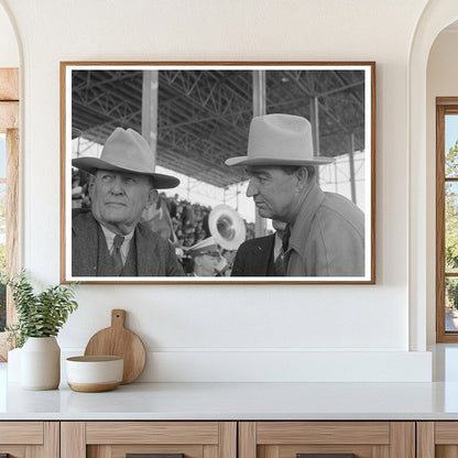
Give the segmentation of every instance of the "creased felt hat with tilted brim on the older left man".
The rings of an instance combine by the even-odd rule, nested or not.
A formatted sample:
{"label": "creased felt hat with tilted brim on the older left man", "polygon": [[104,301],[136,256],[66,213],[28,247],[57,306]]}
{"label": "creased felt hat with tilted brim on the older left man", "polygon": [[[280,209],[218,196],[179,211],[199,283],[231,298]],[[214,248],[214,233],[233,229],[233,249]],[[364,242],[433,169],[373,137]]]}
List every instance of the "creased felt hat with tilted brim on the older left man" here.
{"label": "creased felt hat with tilted brim on the older left man", "polygon": [[78,157],[72,164],[92,175],[97,170],[149,175],[156,189],[179,185],[178,178],[154,172],[154,154],[146,140],[133,129],[116,128],[105,142],[100,157]]}

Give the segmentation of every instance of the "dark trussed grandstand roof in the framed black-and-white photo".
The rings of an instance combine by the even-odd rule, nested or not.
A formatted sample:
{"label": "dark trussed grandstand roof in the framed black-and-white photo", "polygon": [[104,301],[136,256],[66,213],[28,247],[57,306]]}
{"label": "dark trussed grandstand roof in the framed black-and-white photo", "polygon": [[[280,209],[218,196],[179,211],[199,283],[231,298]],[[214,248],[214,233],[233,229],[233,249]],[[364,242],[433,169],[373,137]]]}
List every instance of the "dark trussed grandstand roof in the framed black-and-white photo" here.
{"label": "dark trussed grandstand roof in the framed black-and-white photo", "polygon": [[[75,69],[72,127],[105,143],[117,127],[141,132],[143,70]],[[157,164],[219,187],[246,177],[225,165],[244,155],[252,118],[249,69],[161,69]],[[319,153],[364,149],[364,73],[355,69],[266,72],[266,112],[304,116],[318,110]]]}

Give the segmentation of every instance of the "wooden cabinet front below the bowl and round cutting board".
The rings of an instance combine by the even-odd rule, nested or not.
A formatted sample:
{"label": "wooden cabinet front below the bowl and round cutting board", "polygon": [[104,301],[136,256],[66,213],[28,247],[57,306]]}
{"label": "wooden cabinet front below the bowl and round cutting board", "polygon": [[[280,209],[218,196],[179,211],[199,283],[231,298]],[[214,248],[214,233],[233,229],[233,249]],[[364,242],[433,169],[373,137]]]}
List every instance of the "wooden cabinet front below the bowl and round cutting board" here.
{"label": "wooden cabinet front below the bowl and round cutting board", "polygon": [[63,422],[62,458],[237,458],[235,422]]}

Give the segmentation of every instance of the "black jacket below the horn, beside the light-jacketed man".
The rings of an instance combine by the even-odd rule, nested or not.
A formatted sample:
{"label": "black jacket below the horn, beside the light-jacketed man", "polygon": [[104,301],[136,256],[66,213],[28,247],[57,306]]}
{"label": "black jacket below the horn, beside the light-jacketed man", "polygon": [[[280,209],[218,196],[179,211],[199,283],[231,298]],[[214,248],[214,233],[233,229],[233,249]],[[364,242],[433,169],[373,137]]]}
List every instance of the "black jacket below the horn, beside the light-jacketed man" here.
{"label": "black jacket below the horn, beside the light-jacketed man", "polygon": [[231,276],[275,276],[275,235],[246,240],[237,250]]}

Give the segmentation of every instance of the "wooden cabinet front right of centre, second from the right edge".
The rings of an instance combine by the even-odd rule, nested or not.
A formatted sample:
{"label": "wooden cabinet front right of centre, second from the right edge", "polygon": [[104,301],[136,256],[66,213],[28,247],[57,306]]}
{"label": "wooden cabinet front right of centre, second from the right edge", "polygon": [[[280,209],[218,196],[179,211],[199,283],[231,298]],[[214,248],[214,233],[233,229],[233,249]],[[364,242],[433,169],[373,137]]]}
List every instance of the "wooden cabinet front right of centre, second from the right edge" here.
{"label": "wooden cabinet front right of centre, second from the right edge", "polygon": [[415,458],[413,422],[242,422],[239,458]]}

